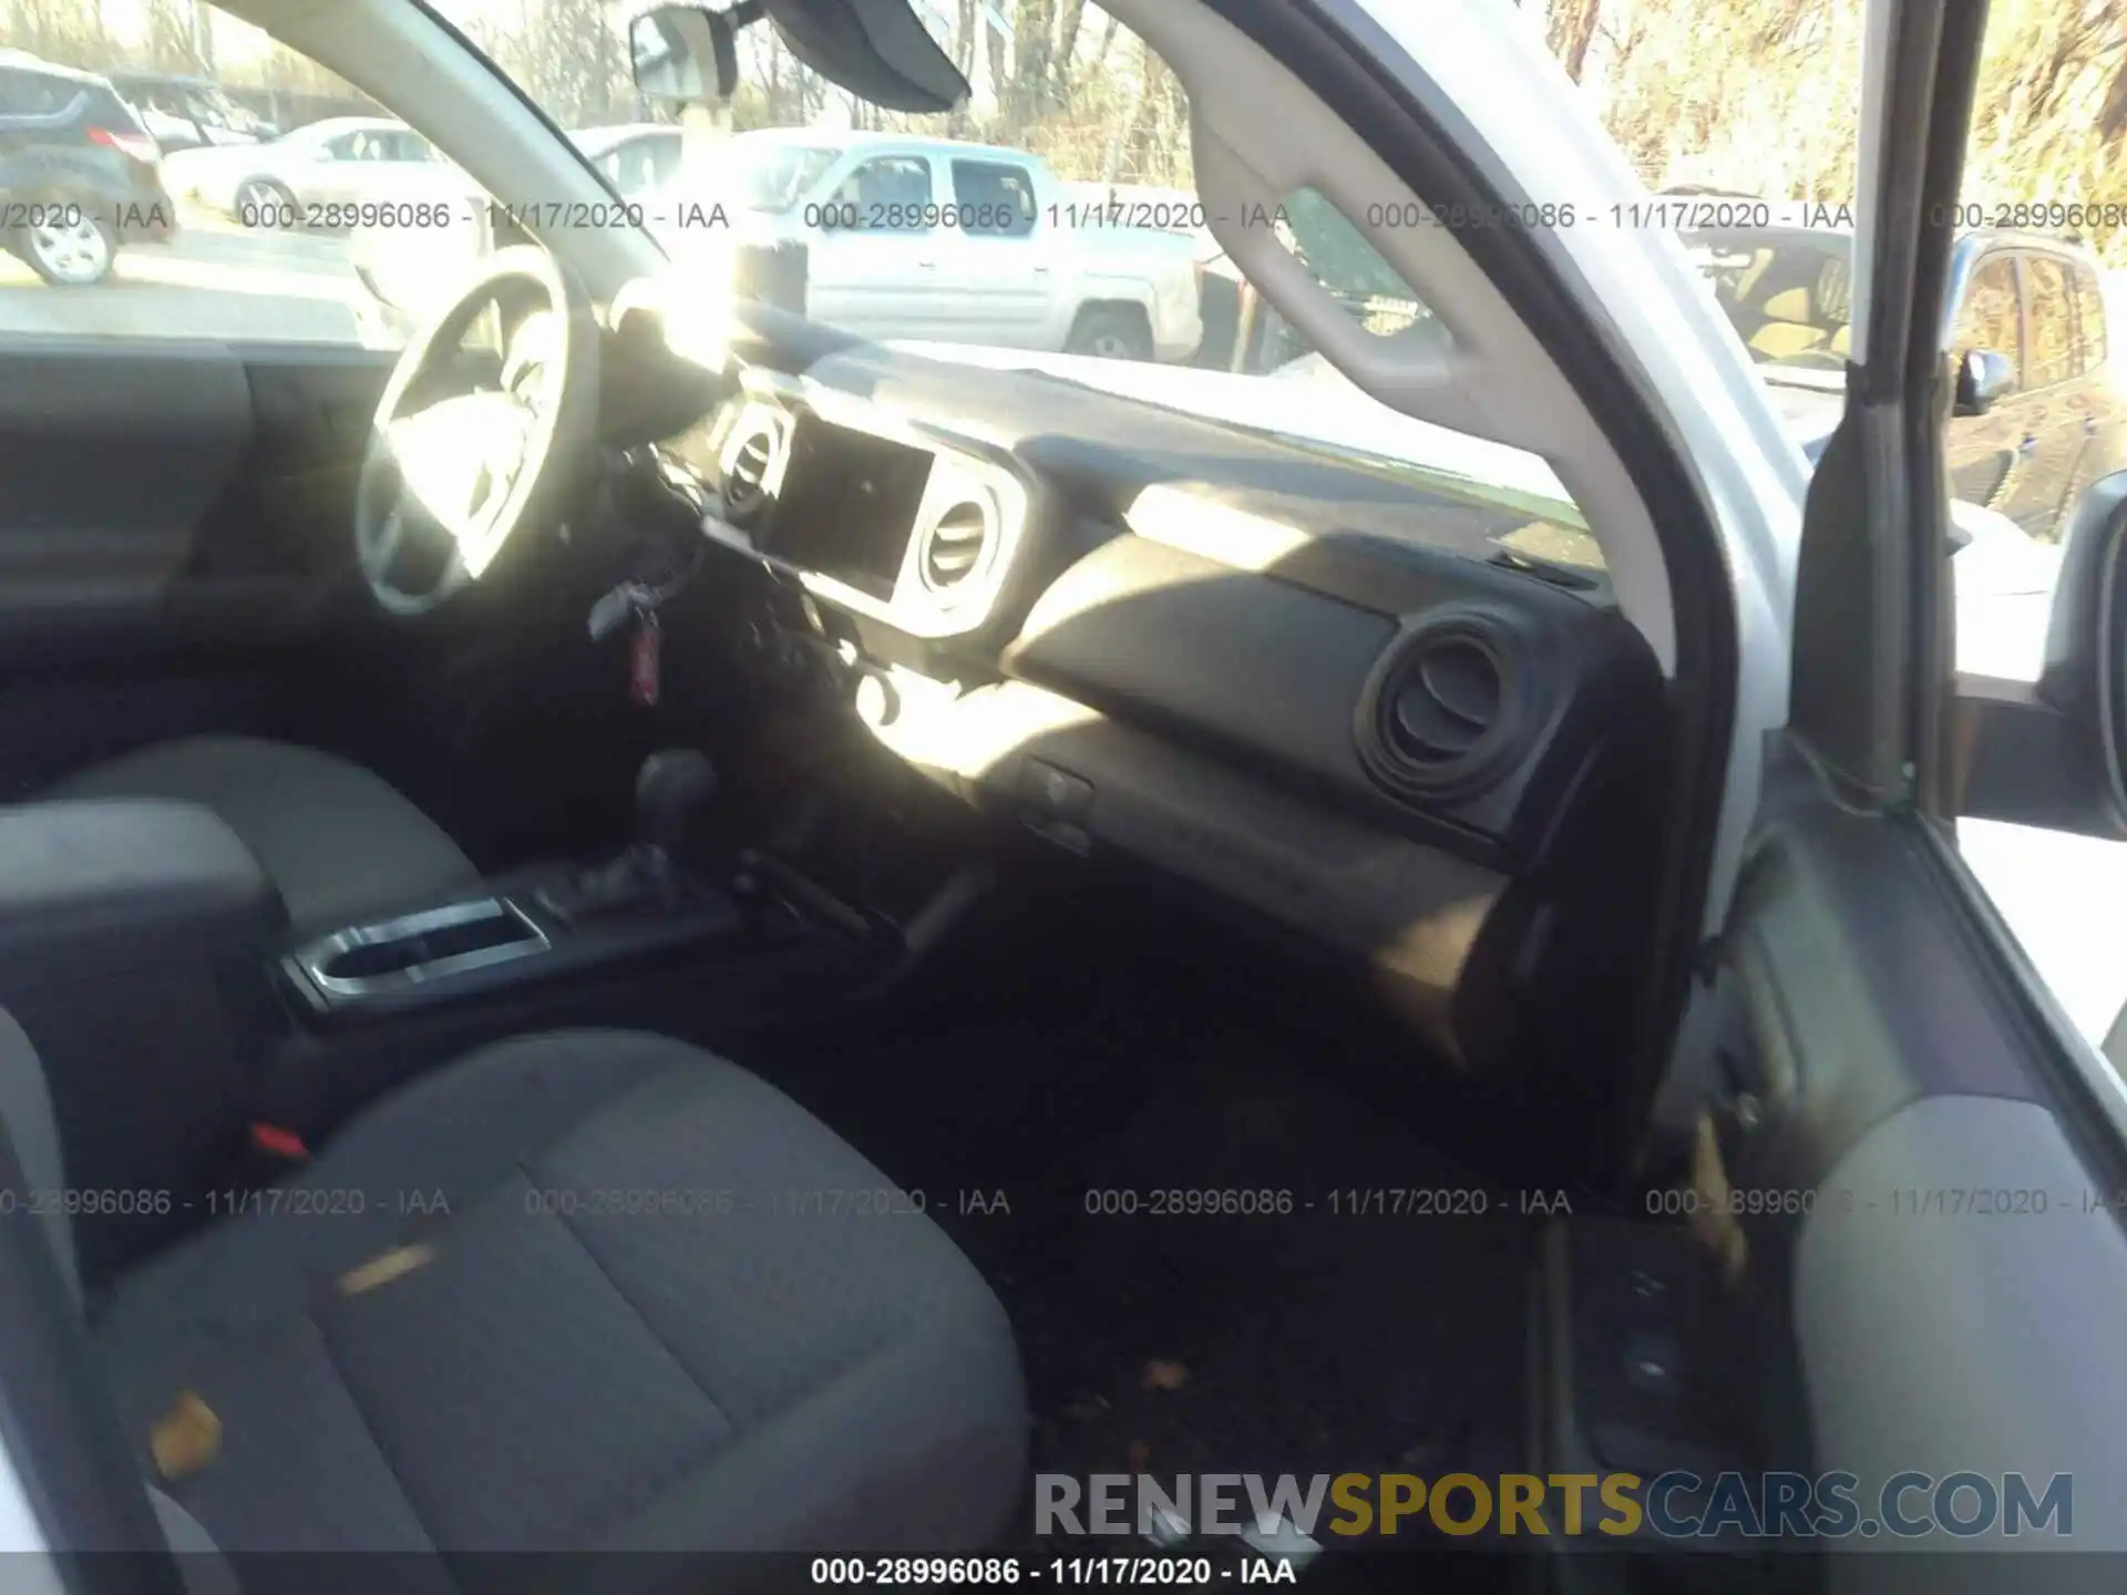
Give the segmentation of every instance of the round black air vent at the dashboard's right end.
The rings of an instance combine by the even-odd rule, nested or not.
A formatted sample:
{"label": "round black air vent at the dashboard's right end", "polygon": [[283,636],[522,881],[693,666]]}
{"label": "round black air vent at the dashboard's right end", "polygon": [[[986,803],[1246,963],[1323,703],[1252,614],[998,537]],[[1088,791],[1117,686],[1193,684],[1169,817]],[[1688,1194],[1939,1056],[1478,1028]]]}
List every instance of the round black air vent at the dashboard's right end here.
{"label": "round black air vent at the dashboard's right end", "polygon": [[1436,610],[1374,666],[1359,755],[1404,795],[1474,791],[1512,763],[1529,715],[1512,632],[1489,610]]}

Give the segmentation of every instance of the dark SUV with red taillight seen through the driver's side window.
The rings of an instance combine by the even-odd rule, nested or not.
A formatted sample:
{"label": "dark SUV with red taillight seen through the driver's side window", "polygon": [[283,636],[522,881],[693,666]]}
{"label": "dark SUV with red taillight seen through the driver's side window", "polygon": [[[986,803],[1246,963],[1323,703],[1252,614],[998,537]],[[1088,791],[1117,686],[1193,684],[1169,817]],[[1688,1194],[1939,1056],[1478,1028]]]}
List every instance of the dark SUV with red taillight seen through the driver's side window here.
{"label": "dark SUV with red taillight seen through the driver's side window", "polygon": [[47,283],[102,283],[119,245],[168,242],[162,151],[108,79],[0,51],[0,247]]}

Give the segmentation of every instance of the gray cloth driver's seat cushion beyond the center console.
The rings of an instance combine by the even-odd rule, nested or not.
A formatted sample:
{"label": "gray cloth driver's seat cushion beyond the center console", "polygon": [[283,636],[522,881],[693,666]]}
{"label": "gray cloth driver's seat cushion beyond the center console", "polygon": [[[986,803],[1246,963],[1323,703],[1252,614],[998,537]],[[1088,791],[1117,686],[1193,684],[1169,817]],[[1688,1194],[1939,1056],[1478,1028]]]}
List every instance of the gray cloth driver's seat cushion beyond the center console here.
{"label": "gray cloth driver's seat cushion beyond the center console", "polygon": [[434,902],[479,870],[428,815],[347,759],[249,736],[125,753],[43,797],[172,797],[215,810],[281,891],[298,931]]}

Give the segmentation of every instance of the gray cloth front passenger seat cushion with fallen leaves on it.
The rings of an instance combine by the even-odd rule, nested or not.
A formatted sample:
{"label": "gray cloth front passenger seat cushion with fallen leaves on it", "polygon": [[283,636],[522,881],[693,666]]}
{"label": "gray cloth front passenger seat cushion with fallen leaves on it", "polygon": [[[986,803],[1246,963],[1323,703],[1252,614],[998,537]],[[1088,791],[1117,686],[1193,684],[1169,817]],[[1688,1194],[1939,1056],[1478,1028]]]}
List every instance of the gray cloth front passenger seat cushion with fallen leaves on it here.
{"label": "gray cloth front passenger seat cushion with fallen leaves on it", "polygon": [[[36,1097],[0,1106],[43,1185]],[[983,1278],[825,1125],[681,1042],[483,1048],[274,1206],[121,1276],[89,1323],[143,1476],[221,1550],[976,1550],[1023,1493]],[[155,1478],[185,1395],[219,1450]],[[462,1561],[391,1580],[445,1565],[464,1586]]]}

